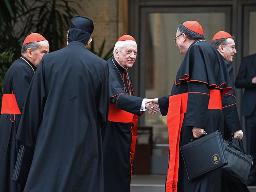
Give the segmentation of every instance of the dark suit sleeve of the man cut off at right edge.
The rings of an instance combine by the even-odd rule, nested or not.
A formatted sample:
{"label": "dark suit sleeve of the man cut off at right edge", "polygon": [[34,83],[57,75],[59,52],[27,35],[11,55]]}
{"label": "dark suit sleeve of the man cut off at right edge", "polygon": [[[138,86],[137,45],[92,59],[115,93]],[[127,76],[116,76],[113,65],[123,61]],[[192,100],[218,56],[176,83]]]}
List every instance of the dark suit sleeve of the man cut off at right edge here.
{"label": "dark suit sleeve of the man cut off at right edge", "polygon": [[[235,86],[236,88],[253,88],[256,87],[256,84],[252,83],[252,78],[246,76],[247,70],[249,70],[247,68],[247,60],[243,59],[242,63],[240,65],[239,68],[239,72],[236,76],[236,82],[235,82]],[[255,74],[256,76],[256,74]]]}

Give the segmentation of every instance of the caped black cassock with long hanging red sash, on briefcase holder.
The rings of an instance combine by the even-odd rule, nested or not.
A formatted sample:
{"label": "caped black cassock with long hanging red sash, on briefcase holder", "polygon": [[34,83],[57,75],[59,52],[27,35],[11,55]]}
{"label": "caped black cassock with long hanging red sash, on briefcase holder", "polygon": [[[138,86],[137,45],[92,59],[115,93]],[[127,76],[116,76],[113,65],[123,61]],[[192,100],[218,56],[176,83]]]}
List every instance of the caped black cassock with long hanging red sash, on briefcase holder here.
{"label": "caped black cassock with long hanging red sash, on briefcase holder", "polygon": [[[167,114],[168,121],[170,155],[166,192],[176,191],[177,188],[178,192],[220,191],[221,169],[188,180],[179,146],[191,141],[193,126],[203,128],[207,133],[220,130],[223,134],[224,115],[221,95],[230,90],[228,69],[222,56],[204,40],[193,42],[178,70],[170,96],[158,100],[161,113]],[[176,103],[180,105],[178,108],[174,108],[177,106]],[[176,128],[174,122],[177,118],[180,123]],[[177,134],[179,131],[180,135]],[[177,144],[170,142],[172,139],[176,139]],[[174,147],[176,150],[173,150]],[[179,160],[175,162],[177,156]],[[175,163],[174,168],[171,167],[173,163]],[[202,166],[204,164],[198,163]],[[172,176],[174,178],[170,179]]]}

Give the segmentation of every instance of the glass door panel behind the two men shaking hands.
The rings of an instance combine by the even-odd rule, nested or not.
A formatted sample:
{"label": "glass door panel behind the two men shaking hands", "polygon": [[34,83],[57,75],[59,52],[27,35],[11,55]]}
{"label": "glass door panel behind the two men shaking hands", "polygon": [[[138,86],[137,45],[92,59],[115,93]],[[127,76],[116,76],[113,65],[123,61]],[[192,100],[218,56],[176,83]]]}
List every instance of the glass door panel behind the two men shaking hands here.
{"label": "glass door panel behind the two men shaking hands", "polygon": [[[178,24],[198,20],[208,43],[218,30],[225,30],[224,12],[206,13],[148,13],[146,17],[146,90],[145,98],[157,98],[170,94],[176,73],[184,58],[173,38]],[[168,161],[168,130],[166,116],[160,113],[144,114],[145,125],[153,127],[152,173],[166,172],[154,167],[164,158]],[[167,163],[167,162],[166,162]]]}

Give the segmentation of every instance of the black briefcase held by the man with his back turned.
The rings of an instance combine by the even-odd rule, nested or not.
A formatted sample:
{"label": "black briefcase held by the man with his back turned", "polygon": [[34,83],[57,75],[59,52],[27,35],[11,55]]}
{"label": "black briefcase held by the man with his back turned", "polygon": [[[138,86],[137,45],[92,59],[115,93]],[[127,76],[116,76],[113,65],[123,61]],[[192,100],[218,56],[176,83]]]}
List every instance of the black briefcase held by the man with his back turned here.
{"label": "black briefcase held by the man with his back turned", "polygon": [[23,185],[26,184],[34,151],[27,146],[20,146],[18,158],[14,168],[12,180]]}

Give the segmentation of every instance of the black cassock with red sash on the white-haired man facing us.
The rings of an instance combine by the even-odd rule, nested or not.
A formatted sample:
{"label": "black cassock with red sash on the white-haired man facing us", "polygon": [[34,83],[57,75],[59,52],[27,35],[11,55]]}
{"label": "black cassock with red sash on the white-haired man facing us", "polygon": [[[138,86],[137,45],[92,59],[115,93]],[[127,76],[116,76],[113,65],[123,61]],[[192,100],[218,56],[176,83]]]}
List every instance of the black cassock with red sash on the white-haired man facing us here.
{"label": "black cassock with red sash on the white-haired man facing us", "polygon": [[107,63],[110,112],[103,141],[104,192],[129,192],[136,142],[136,117],[142,114],[140,107],[143,98],[134,96],[129,70],[120,66],[114,56]]}

